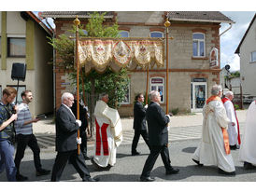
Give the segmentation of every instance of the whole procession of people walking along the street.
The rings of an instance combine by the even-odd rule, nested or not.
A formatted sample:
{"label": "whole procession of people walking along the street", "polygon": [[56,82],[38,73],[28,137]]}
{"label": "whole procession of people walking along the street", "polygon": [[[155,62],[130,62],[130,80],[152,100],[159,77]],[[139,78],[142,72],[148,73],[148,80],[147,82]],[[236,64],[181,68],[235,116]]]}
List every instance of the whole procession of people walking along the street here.
{"label": "whole procession of people walking along the street", "polygon": [[[40,148],[33,134],[33,123],[39,118],[31,117],[28,104],[32,102],[33,95],[30,90],[21,93],[22,103],[13,105],[17,96],[16,89],[7,87],[3,90],[0,103],[0,172],[6,169],[7,181],[26,181],[28,177],[21,174],[20,164],[24,151],[28,145],[34,154],[36,176],[50,174],[49,170],[42,168],[40,160]],[[220,174],[235,176],[235,163],[231,150],[238,150],[239,161],[244,163],[244,169],[255,169],[256,153],[254,150],[254,138],[256,137],[256,102],[249,105],[246,118],[245,132],[240,138],[239,123],[236,117],[235,107],[232,103],[234,93],[228,91],[221,100],[222,88],[214,85],[211,96],[207,98],[203,107],[202,138],[200,144],[192,155],[192,161],[196,166],[203,167],[213,165],[218,168]],[[51,182],[61,180],[66,163],[72,164],[83,182],[97,182],[99,178],[92,178],[87,168],[86,160],[91,159],[94,169],[108,171],[117,162],[117,150],[122,143],[123,130],[121,117],[118,110],[107,105],[108,94],[101,93],[96,102],[95,140],[92,157],[88,157],[86,129],[88,127],[87,110],[79,103],[80,118],[78,119],[76,95],[64,92],[62,104],[56,113],[56,158],[51,171]],[[171,117],[164,113],[161,107],[161,95],[157,90],[149,93],[149,105],[144,105],[144,95],[139,93],[135,97],[134,105],[134,130],[135,136],[132,143],[132,156],[140,153],[136,146],[140,135],[149,147],[149,157],[141,165],[139,181],[155,181],[150,176],[154,164],[161,155],[164,163],[165,174],[177,174],[178,168],[171,165],[168,145],[168,127]],[[76,106],[74,103],[76,102]],[[14,109],[14,110],[13,110]],[[146,123],[147,122],[147,123]],[[80,136],[78,137],[78,130]],[[16,135],[15,135],[16,134]],[[16,156],[14,144],[17,142]],[[78,148],[80,146],[80,149]],[[78,152],[78,150],[80,150]]]}

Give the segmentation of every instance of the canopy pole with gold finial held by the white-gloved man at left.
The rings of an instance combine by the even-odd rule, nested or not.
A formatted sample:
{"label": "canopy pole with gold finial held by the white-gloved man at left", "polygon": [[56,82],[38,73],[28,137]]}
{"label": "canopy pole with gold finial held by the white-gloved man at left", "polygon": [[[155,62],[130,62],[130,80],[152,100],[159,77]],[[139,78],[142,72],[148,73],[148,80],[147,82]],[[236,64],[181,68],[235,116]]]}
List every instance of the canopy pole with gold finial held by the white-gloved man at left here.
{"label": "canopy pole with gold finial held by the white-gloved man at left", "polygon": [[[77,119],[80,119],[79,117],[79,63],[78,63],[78,25],[80,24],[80,21],[78,20],[78,16],[76,17],[76,20],[74,20],[74,23],[76,25],[76,66],[77,66]],[[78,138],[80,137],[80,131],[78,129]],[[78,144],[78,155],[80,154],[80,144]]]}

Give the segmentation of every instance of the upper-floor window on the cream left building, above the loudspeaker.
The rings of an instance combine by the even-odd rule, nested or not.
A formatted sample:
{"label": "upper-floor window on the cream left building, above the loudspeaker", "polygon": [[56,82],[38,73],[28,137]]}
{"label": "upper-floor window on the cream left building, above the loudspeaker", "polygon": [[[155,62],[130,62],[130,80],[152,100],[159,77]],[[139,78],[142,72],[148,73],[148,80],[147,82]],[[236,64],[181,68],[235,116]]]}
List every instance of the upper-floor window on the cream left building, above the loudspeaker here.
{"label": "upper-floor window on the cream left building, above the loudspeaker", "polygon": [[25,57],[26,56],[26,39],[22,37],[7,38],[7,56],[8,57]]}

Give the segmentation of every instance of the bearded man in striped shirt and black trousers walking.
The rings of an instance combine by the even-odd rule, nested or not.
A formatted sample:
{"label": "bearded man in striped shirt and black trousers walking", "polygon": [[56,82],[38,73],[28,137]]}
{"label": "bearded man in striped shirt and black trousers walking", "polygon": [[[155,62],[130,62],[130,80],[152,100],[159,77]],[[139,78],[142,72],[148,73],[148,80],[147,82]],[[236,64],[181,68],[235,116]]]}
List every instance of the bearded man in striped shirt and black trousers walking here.
{"label": "bearded man in striped shirt and black trousers walking", "polygon": [[40,160],[40,148],[37,144],[36,136],[33,134],[33,123],[36,123],[39,118],[32,118],[28,104],[33,100],[33,94],[30,90],[21,92],[22,103],[18,106],[18,118],[15,122],[17,151],[15,155],[15,165],[17,168],[17,181],[25,181],[28,178],[21,175],[20,165],[21,159],[24,157],[26,146],[29,146],[34,154],[34,162],[36,167],[36,176],[50,174],[50,170],[42,169]]}

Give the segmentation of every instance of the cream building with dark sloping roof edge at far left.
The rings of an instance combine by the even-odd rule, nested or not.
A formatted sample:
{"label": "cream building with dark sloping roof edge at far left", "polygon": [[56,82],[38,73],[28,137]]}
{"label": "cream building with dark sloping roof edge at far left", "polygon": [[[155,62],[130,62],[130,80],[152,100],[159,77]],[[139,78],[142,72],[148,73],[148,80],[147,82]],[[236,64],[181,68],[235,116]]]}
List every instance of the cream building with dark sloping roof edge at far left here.
{"label": "cream building with dark sloping roof edge at far left", "polygon": [[26,77],[20,81],[18,103],[21,91],[32,90],[34,101],[30,103],[33,116],[53,111],[53,50],[47,36],[52,31],[31,11],[0,12],[0,98],[7,86],[17,89],[17,80],[11,79],[12,64],[26,64]]}

